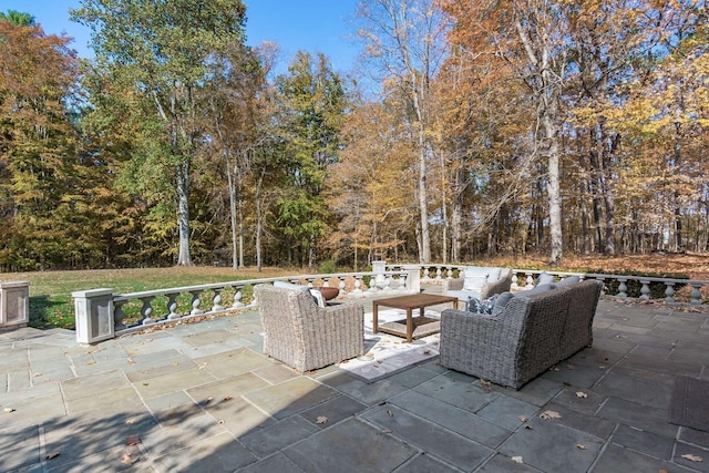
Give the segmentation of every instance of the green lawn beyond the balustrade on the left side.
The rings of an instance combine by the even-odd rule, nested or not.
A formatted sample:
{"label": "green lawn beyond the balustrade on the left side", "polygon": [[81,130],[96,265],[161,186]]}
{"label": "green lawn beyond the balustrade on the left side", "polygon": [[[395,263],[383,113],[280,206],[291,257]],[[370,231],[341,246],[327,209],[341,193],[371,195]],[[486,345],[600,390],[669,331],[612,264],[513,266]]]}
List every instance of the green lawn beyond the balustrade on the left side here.
{"label": "green lawn beyond the balustrade on the left side", "polygon": [[[254,269],[213,267],[172,267],[146,269],[97,269],[82,271],[2,273],[1,281],[30,281],[30,327],[74,328],[74,306],[71,294],[78,290],[113,288],[114,294],[137,292],[179,286],[195,286],[242,279],[268,278],[298,274],[292,269],[267,268],[263,273]],[[247,296],[247,295],[245,295]],[[188,297],[185,296],[185,297]],[[184,304],[185,301],[183,301]],[[230,300],[227,300],[230,302]],[[206,302],[205,302],[206,305]],[[163,310],[164,301],[153,304],[156,312]],[[182,307],[182,306],[181,306]],[[125,308],[126,321],[137,317],[140,304]]]}

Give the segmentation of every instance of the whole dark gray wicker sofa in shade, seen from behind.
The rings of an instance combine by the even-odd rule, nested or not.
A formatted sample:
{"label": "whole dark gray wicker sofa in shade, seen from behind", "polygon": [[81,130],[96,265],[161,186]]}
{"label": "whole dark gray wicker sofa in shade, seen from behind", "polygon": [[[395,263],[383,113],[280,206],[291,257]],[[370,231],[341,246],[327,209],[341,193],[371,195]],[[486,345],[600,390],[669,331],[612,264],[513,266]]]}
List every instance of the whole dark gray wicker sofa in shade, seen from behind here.
{"label": "whole dark gray wicker sofa in shade, seen from behind", "polygon": [[496,315],[441,313],[441,364],[520,389],[593,341],[602,282],[520,292]]}

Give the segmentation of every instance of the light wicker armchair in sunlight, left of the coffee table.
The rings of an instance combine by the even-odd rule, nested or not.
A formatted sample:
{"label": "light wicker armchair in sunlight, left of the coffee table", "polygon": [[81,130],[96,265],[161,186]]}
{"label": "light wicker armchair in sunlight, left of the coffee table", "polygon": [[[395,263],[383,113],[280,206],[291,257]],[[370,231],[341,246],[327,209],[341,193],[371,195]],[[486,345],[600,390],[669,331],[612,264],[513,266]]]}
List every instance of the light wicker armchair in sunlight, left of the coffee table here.
{"label": "light wicker armchair in sunlight, left of the coffee table", "polygon": [[264,353],[298,371],[363,354],[364,309],[359,304],[318,307],[307,291],[254,288],[264,326]]}

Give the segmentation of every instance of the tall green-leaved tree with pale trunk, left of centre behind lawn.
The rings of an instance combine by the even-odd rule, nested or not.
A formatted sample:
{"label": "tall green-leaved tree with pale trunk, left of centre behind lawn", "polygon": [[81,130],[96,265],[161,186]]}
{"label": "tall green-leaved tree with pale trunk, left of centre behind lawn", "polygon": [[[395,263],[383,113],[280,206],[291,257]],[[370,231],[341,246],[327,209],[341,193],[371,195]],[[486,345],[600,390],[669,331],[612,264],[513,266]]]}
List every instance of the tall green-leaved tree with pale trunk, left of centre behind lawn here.
{"label": "tall green-leaved tree with pale trunk, left of centre behind lawn", "polygon": [[133,112],[144,117],[146,137],[161,142],[143,155],[174,169],[177,265],[192,264],[189,173],[205,126],[196,91],[212,79],[213,54],[244,42],[245,12],[240,0],[83,0],[71,11],[74,20],[92,28],[101,73],[151,104]]}

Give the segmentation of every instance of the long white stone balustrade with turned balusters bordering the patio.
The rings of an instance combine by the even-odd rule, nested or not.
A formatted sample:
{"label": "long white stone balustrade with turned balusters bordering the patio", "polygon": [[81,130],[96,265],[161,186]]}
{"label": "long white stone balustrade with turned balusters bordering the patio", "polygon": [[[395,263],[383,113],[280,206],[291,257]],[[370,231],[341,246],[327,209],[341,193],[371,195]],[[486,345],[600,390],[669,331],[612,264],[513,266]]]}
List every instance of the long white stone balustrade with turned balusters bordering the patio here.
{"label": "long white stone balustrade with turned balusters bordering the patio", "polygon": [[[387,265],[386,261],[376,261],[371,273],[342,273],[333,275],[306,275],[288,276],[281,278],[249,279],[229,282],[218,282],[201,286],[166,288],[152,291],[114,295],[113,289],[92,289],[73,292],[76,339],[82,343],[95,343],[130,331],[140,330],[152,323],[163,323],[186,317],[213,315],[225,311],[253,307],[257,301],[244,304],[243,289],[246,286],[258,284],[271,284],[282,280],[294,284],[305,284],[309,287],[338,287],[340,296],[357,298],[384,294],[411,294],[421,290],[421,282],[438,284],[443,279],[461,277],[461,271],[466,265]],[[534,280],[541,270],[512,270],[512,290],[525,290],[534,286]],[[664,284],[665,302],[668,305],[682,304],[676,299],[676,292],[680,286],[691,287],[689,302],[692,306],[702,305],[701,288],[709,286],[709,281],[688,279],[653,278],[645,276],[604,275],[549,271],[546,273],[566,278],[572,275],[580,279],[597,279],[604,282],[602,294],[608,294],[607,286],[610,281],[617,282],[617,290],[612,296],[630,298],[627,294],[628,282],[634,281],[640,286],[641,299],[650,299],[650,285]],[[28,284],[29,286],[29,284]],[[0,285],[1,289],[1,285]],[[686,291],[684,291],[686,292]],[[179,307],[179,300],[188,298]],[[232,305],[224,304],[232,298]],[[156,313],[154,302],[156,299],[166,299],[165,313]],[[210,307],[203,307],[203,301],[209,301]],[[133,306],[131,306],[133,305]],[[135,308],[134,306],[140,306]],[[162,305],[162,302],[161,302]],[[133,307],[133,312],[140,312],[140,321],[131,326],[124,323],[126,308]],[[29,312],[29,310],[28,310]]]}

